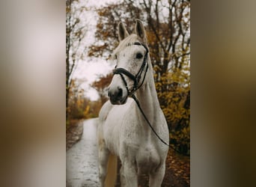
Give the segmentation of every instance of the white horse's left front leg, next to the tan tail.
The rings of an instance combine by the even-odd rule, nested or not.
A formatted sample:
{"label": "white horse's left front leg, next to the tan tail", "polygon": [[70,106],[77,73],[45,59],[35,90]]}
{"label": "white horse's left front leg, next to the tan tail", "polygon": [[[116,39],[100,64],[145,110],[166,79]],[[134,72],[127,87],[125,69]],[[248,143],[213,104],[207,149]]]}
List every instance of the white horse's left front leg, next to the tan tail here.
{"label": "white horse's left front leg, next to the tan tail", "polygon": [[132,163],[131,161],[122,163],[121,177],[123,177],[121,178],[122,187],[138,186],[138,176],[135,163]]}

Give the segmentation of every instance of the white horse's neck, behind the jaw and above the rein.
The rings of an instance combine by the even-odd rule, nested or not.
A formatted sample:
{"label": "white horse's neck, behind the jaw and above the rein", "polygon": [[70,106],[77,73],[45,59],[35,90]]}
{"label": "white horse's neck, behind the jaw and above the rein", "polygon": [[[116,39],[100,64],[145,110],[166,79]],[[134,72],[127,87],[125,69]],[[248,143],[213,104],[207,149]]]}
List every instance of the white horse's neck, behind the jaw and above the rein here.
{"label": "white horse's neck, behind the jaw and above the rein", "polygon": [[[136,91],[136,97],[141,105],[144,114],[150,122],[154,122],[159,114],[159,101],[157,99],[156,87],[153,80],[153,73],[148,75],[147,82]],[[140,111],[138,111],[140,112]]]}

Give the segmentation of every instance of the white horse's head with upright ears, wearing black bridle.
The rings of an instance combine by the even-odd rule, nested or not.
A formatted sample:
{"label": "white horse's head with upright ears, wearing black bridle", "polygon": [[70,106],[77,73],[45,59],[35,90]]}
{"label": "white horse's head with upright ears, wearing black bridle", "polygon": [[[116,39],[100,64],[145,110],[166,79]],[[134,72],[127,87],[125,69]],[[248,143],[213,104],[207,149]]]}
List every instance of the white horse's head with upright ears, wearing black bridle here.
{"label": "white horse's head with upright ears, wearing black bridle", "polygon": [[119,45],[112,54],[116,67],[108,96],[113,105],[122,105],[127,97],[144,83],[147,73],[147,39],[144,26],[136,20],[135,34],[128,34],[122,22],[118,25]]}

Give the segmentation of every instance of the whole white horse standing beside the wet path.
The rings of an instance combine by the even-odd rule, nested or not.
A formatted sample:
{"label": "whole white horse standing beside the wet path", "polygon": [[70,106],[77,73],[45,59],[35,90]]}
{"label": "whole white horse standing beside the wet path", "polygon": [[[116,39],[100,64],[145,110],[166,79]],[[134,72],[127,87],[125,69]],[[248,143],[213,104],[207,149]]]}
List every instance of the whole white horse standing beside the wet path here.
{"label": "whole white horse standing beside the wet path", "polygon": [[115,186],[117,158],[121,186],[138,186],[138,174],[149,174],[149,186],[161,186],[168,146],[153,133],[132,94],[140,102],[155,132],[168,142],[168,126],[159,106],[144,26],[136,20],[135,34],[118,25],[119,46],[112,54],[116,68],[97,129],[101,186]]}

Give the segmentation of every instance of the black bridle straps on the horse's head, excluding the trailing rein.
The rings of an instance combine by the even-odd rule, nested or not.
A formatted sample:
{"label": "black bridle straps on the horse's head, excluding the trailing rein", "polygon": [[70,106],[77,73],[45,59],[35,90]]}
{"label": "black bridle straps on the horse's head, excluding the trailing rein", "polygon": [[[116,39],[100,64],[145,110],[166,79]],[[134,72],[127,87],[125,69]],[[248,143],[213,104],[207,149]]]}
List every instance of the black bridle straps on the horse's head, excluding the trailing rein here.
{"label": "black bridle straps on the horse's head, excluding the trailing rein", "polygon": [[[146,77],[146,73],[147,73],[147,69],[148,69],[148,64],[147,64],[147,54],[148,54],[148,49],[147,49],[147,46],[144,44],[144,43],[139,43],[139,42],[135,42],[135,43],[128,43],[127,46],[132,46],[132,45],[137,45],[137,46],[144,46],[144,49],[146,49],[146,54],[144,55],[144,58],[143,58],[143,63],[141,65],[141,68],[138,70],[138,73],[133,76],[132,73],[129,73],[129,71],[125,70],[124,68],[115,68],[115,70],[113,70],[113,73],[114,75],[115,74],[119,74],[124,82],[124,85],[125,87],[127,88],[127,93],[129,96],[132,95],[132,93],[134,93],[135,91],[138,90],[138,88],[141,87],[141,85],[143,85],[143,82],[144,82],[144,79]],[[140,85],[138,85],[138,83],[140,82],[141,80],[141,74],[144,70],[144,67],[146,66],[146,70],[145,70],[145,73],[144,73],[144,77],[142,79],[142,82]],[[128,85],[127,85],[127,82],[126,80],[124,79],[124,75],[128,76],[129,79],[132,79],[132,81],[134,82],[133,83],[133,88],[132,88],[132,91],[129,91],[128,89]]]}

